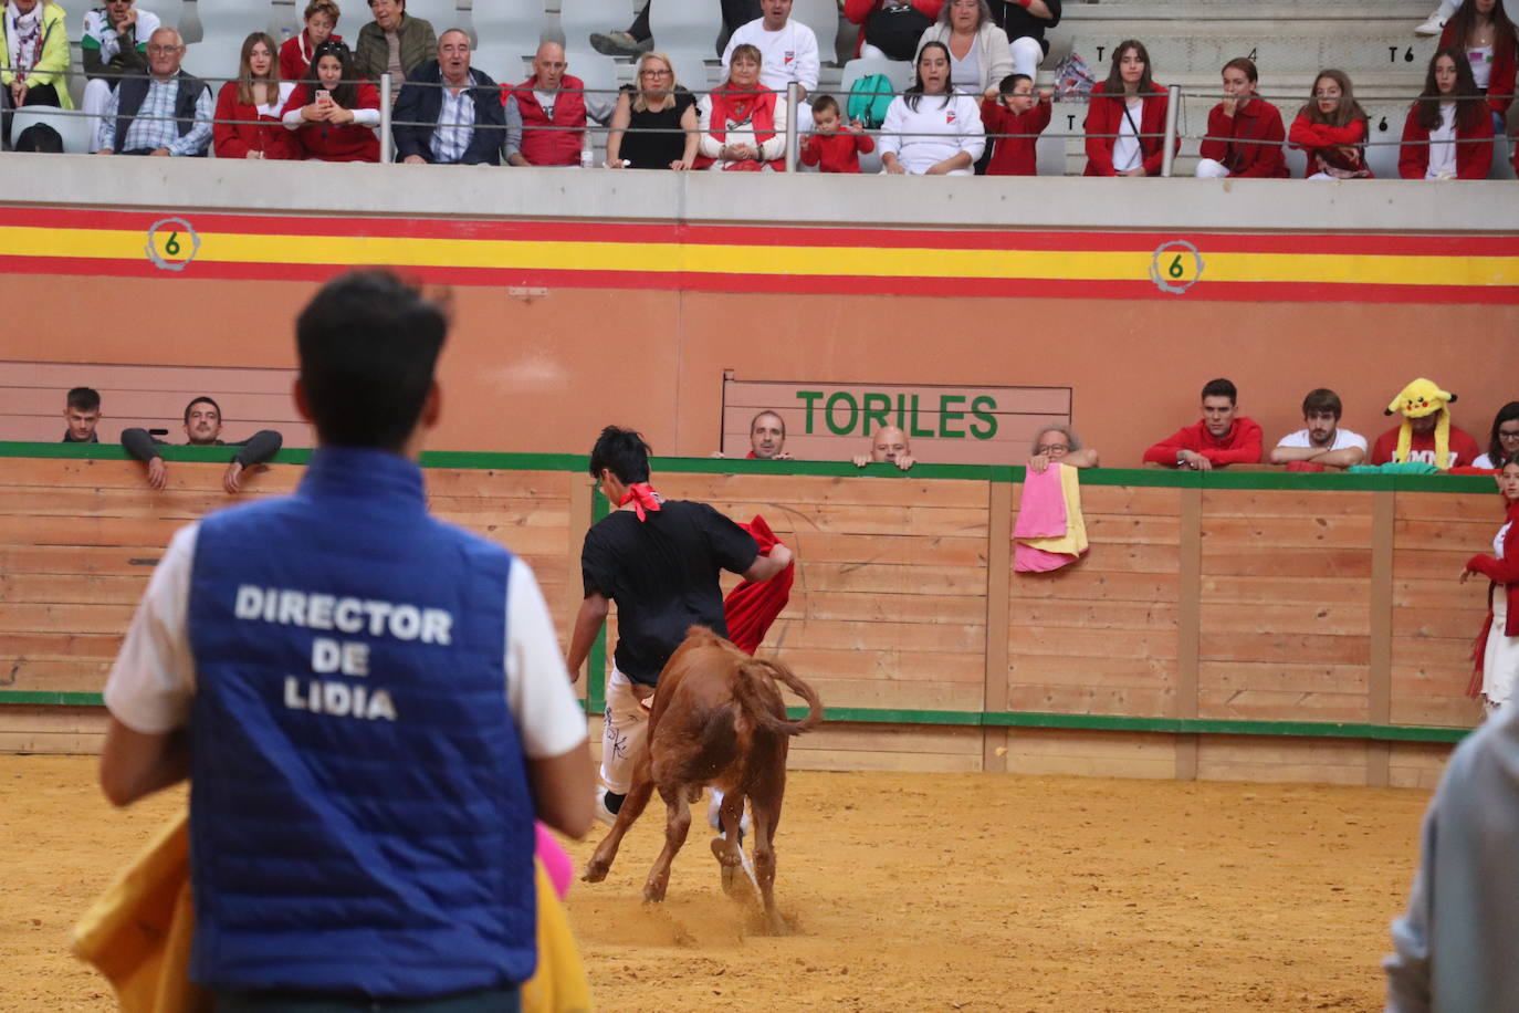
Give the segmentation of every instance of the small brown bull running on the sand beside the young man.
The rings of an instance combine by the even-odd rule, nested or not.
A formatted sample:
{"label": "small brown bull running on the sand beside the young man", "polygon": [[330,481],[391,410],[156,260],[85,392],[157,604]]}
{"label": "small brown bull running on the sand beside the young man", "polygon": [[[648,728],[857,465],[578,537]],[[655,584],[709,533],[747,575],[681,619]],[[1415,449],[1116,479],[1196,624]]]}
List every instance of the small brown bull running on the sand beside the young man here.
{"label": "small brown bull running on the sand beside the young man", "polygon": [[[776,682],[807,700],[799,721],[785,717]],[[646,901],[664,901],[670,863],[691,829],[691,802],[705,785],[723,790],[723,835],[712,838],[712,854],[723,869],[723,887],[732,892],[743,864],[738,822],[744,799],[753,813],[755,879],[772,931],[784,926],[775,910],[775,829],[785,793],[785,753],[790,737],[823,717],[817,693],[785,665],[750,658],[702,626],[659,673],[649,714],[647,749],[633,761],[633,787],[623,799],[617,823],[585,867],[588,882],[606,878],[623,834],[643,814],[659,788],[668,806],[665,846],[644,884]]]}

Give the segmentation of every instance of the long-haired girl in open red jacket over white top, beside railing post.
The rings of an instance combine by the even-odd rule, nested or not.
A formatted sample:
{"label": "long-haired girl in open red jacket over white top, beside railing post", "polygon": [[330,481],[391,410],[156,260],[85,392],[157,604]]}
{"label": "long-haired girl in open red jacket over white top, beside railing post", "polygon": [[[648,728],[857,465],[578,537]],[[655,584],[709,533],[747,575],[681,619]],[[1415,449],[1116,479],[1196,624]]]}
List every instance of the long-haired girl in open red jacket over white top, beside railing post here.
{"label": "long-haired girl in open red jacket over white top, beside railing post", "polygon": [[[1150,77],[1150,50],[1126,39],[1086,106],[1088,176],[1159,176],[1165,161],[1165,85]],[[1180,150],[1182,138],[1176,138]]]}

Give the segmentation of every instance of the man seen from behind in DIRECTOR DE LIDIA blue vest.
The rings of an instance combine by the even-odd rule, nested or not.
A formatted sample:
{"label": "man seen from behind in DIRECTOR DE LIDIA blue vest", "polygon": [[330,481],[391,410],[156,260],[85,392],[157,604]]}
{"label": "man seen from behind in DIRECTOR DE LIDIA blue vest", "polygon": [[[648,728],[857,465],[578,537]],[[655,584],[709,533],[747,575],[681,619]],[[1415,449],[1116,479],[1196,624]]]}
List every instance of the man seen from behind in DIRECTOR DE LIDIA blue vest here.
{"label": "man seen from behind in DIRECTOR DE LIDIA blue vest", "polygon": [[106,797],[190,778],[190,977],[219,1010],[516,1010],[533,819],[591,823],[532,571],[427,512],[445,331],[386,273],[317,293],[301,488],[175,535],[106,683]]}

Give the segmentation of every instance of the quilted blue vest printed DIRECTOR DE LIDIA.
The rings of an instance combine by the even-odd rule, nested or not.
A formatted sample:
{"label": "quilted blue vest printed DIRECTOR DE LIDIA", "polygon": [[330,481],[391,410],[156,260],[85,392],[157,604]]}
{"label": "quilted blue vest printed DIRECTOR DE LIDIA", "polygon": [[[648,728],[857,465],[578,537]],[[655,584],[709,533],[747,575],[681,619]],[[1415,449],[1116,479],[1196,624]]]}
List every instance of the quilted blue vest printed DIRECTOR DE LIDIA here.
{"label": "quilted blue vest printed DIRECTOR DE LIDIA", "polygon": [[322,448],[293,497],[201,522],[194,981],[431,998],[532,977],[510,566],[381,451]]}

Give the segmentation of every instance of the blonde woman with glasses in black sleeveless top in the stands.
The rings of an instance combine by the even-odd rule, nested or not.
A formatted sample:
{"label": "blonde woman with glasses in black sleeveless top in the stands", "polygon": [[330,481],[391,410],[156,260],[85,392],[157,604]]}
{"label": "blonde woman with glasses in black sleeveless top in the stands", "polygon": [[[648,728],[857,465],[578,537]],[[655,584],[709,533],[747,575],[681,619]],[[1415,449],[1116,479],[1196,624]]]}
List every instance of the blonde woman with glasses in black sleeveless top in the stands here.
{"label": "blonde woman with glasses in black sleeveless top in the stands", "polygon": [[690,169],[700,138],[696,96],[674,79],[664,53],[639,56],[635,77],[617,93],[606,135],[608,167]]}

